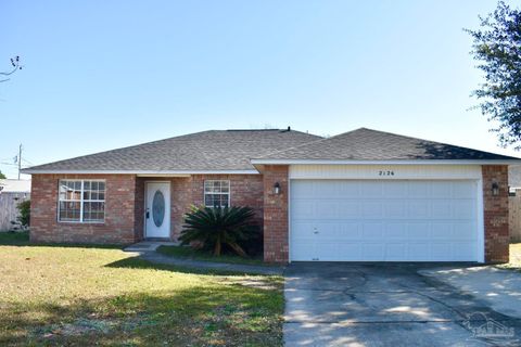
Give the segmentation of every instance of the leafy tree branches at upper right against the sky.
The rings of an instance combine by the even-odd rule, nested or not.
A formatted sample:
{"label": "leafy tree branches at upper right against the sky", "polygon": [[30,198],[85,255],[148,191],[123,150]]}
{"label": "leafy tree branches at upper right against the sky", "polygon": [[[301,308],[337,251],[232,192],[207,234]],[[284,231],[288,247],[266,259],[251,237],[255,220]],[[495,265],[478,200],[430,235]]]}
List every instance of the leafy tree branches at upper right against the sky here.
{"label": "leafy tree branches at upper right against the sky", "polygon": [[479,108],[488,121],[495,121],[503,146],[521,149],[521,11],[504,1],[486,17],[480,16],[480,29],[465,29],[473,39],[476,67],[485,82],[472,94],[480,100]]}

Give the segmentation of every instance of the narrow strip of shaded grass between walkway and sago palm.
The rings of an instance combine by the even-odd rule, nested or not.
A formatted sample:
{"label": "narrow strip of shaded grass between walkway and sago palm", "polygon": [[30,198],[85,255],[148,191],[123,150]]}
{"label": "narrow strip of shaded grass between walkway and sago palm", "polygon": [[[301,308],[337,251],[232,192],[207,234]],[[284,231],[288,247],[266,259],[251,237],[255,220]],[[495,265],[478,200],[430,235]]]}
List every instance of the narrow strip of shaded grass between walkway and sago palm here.
{"label": "narrow strip of shaded grass between walkway and sago palm", "polygon": [[161,253],[165,256],[182,258],[182,259],[194,259],[194,260],[204,260],[204,261],[215,261],[215,262],[229,262],[229,264],[244,264],[244,265],[255,265],[255,266],[269,266],[259,258],[243,258],[236,255],[220,255],[214,256],[213,254],[193,249],[192,247],[187,246],[160,246],[157,253]]}

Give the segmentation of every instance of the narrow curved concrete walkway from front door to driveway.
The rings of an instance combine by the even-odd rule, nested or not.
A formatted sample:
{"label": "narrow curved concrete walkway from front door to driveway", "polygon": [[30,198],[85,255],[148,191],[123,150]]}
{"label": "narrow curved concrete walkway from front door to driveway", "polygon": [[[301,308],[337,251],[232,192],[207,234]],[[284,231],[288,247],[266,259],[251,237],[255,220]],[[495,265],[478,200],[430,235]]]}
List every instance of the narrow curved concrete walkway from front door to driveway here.
{"label": "narrow curved concrete walkway from front door to driveway", "polygon": [[129,247],[126,247],[124,250],[134,253],[138,255],[141,259],[144,259],[151,262],[171,265],[171,266],[178,266],[183,268],[232,271],[232,272],[242,272],[242,273],[258,273],[258,274],[267,274],[267,275],[281,275],[284,271],[283,267],[277,267],[277,266],[263,267],[263,266],[243,265],[243,264],[213,262],[213,261],[165,256],[156,252],[157,247],[164,244],[166,243],[147,241],[147,242],[140,242],[136,245],[130,245]]}

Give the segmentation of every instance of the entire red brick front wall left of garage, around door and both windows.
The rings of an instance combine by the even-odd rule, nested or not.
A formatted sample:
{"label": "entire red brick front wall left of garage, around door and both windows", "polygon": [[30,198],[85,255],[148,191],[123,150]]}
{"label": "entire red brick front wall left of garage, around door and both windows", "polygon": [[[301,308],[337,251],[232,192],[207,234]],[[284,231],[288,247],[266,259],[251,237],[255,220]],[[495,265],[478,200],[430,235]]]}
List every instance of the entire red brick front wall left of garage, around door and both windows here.
{"label": "entire red brick front wall left of garage, around door and both windows", "polygon": [[[60,179],[105,179],[104,223],[58,222]],[[204,180],[230,180],[231,205],[250,206],[254,222],[263,224],[263,177],[260,175],[194,175],[192,177],[143,178],[132,175],[33,175],[30,240],[34,242],[127,244],[144,237],[147,181],[170,182],[170,237],[182,230],[190,205],[203,204]]]}

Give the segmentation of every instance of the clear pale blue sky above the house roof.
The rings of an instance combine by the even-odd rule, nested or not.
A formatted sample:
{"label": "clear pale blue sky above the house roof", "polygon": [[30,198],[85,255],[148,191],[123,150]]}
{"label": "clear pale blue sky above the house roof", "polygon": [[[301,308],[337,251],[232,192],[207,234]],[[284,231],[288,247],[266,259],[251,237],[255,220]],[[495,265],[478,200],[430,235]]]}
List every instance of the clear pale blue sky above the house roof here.
{"label": "clear pale blue sky above the house roof", "polygon": [[[514,1],[507,1],[517,4]],[[208,129],[366,127],[495,153],[469,54],[492,0],[0,1],[0,170]],[[24,176],[23,176],[24,177]],[[28,176],[25,176],[28,178]]]}

